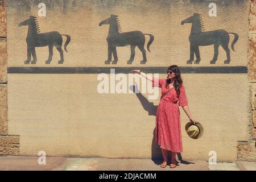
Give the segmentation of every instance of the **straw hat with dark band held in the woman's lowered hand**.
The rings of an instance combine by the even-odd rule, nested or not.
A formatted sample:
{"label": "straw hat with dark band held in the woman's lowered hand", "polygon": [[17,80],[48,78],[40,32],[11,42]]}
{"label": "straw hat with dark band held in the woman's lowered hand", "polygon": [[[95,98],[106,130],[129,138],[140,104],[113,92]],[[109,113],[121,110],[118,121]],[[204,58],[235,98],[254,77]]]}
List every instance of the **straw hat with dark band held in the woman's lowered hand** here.
{"label": "straw hat with dark band held in the woman's lowered hand", "polygon": [[204,128],[199,122],[195,122],[195,124],[196,125],[194,125],[192,122],[188,122],[185,126],[185,130],[189,137],[199,139],[204,133]]}

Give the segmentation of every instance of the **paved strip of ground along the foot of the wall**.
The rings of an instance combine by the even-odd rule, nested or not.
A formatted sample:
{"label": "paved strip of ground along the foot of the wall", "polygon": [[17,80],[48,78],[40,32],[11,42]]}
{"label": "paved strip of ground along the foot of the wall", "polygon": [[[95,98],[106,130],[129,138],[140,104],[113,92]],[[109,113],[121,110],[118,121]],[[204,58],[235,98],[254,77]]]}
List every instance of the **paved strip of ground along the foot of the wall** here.
{"label": "paved strip of ground along the foot of the wall", "polygon": [[0,171],[3,170],[53,170],[53,171],[256,171],[256,162],[217,163],[183,161],[174,169],[160,168],[159,160],[151,159],[105,159],[105,158],[57,158],[47,157],[46,165],[38,164],[38,157],[0,156]]}

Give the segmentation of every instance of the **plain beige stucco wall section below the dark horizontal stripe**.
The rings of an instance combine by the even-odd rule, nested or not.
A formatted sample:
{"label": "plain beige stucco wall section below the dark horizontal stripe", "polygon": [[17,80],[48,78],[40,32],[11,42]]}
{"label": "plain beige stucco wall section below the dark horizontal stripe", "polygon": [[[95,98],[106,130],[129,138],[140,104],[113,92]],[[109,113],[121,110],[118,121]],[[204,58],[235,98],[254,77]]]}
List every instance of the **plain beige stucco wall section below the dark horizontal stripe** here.
{"label": "plain beige stucco wall section below the dark horizontal stripe", "polygon": [[[246,140],[249,92],[247,83],[237,86],[237,80],[247,75],[212,76],[183,75],[191,113],[204,126],[202,138],[189,138],[180,108],[183,158],[207,160],[209,151],[216,151],[218,160],[236,160],[237,141]],[[156,155],[154,115],[136,94],[97,93],[98,82],[97,75],[9,75],[9,133],[20,135],[20,154]]]}

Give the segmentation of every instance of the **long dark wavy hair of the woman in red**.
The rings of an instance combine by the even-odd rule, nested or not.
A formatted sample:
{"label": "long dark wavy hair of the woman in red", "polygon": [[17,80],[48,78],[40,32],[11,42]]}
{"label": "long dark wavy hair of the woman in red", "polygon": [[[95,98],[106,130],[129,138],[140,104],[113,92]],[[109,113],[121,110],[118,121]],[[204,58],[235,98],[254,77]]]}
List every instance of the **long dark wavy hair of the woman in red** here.
{"label": "long dark wavy hair of the woman in red", "polygon": [[[171,65],[171,67],[168,68],[168,71],[174,72],[174,88],[177,92],[177,94],[180,94],[180,86],[182,85],[183,81],[181,79],[181,73],[180,68],[177,65]],[[171,79],[167,79],[166,88],[169,88],[169,84],[171,84]]]}

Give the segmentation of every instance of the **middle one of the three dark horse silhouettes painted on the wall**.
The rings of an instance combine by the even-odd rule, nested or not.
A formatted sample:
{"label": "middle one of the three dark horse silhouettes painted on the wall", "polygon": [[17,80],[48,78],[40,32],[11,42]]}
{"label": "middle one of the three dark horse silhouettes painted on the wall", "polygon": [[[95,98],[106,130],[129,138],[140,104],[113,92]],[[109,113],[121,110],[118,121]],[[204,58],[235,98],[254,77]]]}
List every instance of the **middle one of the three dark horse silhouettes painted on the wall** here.
{"label": "middle one of the three dark horse silhouettes painted on the wall", "polygon": [[150,52],[150,45],[154,41],[154,36],[152,34],[143,34],[141,31],[131,31],[131,32],[122,32],[119,24],[119,20],[117,15],[111,15],[110,18],[103,20],[100,22],[99,26],[102,24],[109,24],[109,34],[107,38],[108,42],[108,60],[105,61],[105,64],[110,64],[112,61],[112,54],[114,56],[114,60],[112,64],[117,64],[117,49],[116,47],[129,46],[131,47],[131,57],[130,60],[127,61],[127,64],[132,64],[135,56],[135,47],[141,50],[143,55],[143,60],[141,64],[146,64],[146,50],[144,49],[145,44],[145,36],[150,36],[150,40],[147,43],[147,50]]}

